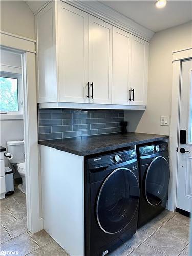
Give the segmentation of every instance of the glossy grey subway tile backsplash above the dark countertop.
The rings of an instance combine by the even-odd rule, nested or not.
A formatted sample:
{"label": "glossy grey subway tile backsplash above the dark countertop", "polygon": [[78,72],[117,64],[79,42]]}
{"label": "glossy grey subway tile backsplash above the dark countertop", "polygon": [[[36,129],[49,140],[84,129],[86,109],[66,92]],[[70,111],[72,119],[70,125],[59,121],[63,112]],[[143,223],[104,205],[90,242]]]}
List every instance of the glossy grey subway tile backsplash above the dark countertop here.
{"label": "glossy grey subway tile backsplash above the dark countertop", "polygon": [[121,132],[123,110],[39,109],[39,140]]}

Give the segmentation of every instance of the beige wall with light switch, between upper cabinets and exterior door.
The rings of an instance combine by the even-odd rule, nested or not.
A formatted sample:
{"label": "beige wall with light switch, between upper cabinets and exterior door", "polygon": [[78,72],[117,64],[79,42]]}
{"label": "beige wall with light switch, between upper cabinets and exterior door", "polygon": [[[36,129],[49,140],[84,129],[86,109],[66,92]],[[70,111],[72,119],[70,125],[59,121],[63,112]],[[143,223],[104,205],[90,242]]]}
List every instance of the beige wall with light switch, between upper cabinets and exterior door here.
{"label": "beige wall with light switch, between upper cabinets and exterior door", "polygon": [[170,116],[172,51],[192,46],[192,22],[154,34],[150,41],[148,103],[145,111],[125,111],[128,131],[169,135],[160,116]]}

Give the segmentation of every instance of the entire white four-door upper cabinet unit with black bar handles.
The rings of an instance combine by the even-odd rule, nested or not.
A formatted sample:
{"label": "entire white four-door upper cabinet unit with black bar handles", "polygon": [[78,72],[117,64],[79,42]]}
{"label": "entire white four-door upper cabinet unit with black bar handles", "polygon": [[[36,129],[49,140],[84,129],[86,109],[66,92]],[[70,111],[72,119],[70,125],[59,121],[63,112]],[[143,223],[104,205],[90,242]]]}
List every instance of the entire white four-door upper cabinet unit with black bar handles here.
{"label": "entire white four-door upper cabinet unit with black bar handles", "polygon": [[62,1],[35,30],[38,103],[147,105],[148,42]]}

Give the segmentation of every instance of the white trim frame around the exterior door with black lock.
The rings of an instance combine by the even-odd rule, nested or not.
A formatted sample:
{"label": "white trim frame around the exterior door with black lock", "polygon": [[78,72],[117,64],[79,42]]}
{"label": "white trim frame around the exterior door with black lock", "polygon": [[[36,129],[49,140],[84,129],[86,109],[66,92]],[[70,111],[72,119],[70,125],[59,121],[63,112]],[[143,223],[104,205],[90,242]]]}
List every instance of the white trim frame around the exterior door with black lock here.
{"label": "white trim frame around the exterior door with black lock", "polygon": [[170,184],[168,210],[175,211],[177,191],[178,143],[179,143],[179,112],[181,88],[181,61],[192,58],[192,47],[173,52],[173,81],[172,81],[172,113],[170,123]]}

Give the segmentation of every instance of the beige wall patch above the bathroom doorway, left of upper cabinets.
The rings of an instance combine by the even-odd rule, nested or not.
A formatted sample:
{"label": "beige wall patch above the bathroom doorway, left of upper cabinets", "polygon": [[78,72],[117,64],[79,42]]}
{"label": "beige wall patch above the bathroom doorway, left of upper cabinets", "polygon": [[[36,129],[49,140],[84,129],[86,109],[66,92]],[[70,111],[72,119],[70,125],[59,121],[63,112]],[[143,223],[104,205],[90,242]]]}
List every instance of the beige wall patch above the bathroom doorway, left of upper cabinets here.
{"label": "beige wall patch above the bathroom doorway, left of upper cabinets", "polygon": [[34,16],[25,1],[0,1],[1,30],[35,39]]}

